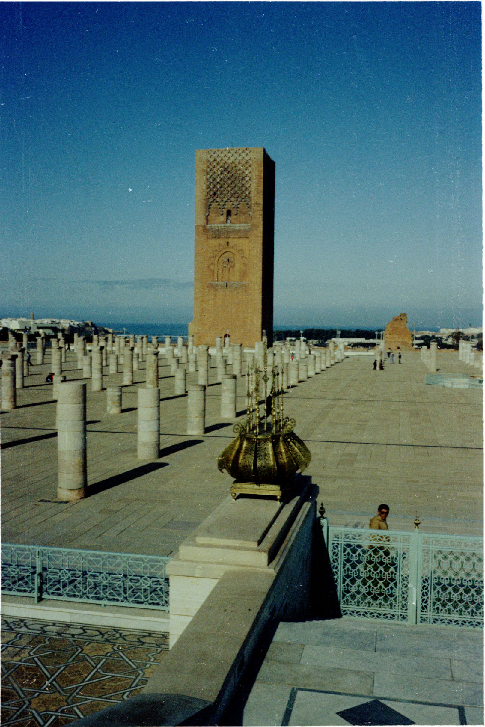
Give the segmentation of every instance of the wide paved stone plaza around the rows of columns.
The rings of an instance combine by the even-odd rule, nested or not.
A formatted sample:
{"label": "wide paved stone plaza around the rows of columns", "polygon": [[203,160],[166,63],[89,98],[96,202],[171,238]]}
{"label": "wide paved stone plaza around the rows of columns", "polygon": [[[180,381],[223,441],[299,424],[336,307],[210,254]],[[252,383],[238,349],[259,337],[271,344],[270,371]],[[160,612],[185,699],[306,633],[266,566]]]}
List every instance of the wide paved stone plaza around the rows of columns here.
{"label": "wide paved stone plaza around the rows of columns", "polygon": [[[47,358],[47,361],[49,359]],[[56,403],[44,383],[49,364],[33,366],[18,408],[1,415],[2,541],[171,555],[227,497],[231,479],[217,457],[234,437],[220,417],[217,369],[209,369],[206,433],[186,435],[185,396],[161,358],[161,456],[137,459],[137,387],[123,387],[121,414],[106,414],[106,392],[87,388],[88,495],[56,502]],[[64,364],[80,379],[75,359]],[[457,353],[438,352],[443,372],[476,373]],[[105,385],[122,374],[103,372]],[[390,505],[390,529],[481,535],[483,443],[480,389],[425,385],[420,356],[372,370],[372,358],[351,357],[301,382],[285,395],[285,414],[307,443],[307,470],[332,525],[364,526],[377,505]],[[188,374],[188,383],[197,374]],[[243,414],[245,379],[238,382]]]}

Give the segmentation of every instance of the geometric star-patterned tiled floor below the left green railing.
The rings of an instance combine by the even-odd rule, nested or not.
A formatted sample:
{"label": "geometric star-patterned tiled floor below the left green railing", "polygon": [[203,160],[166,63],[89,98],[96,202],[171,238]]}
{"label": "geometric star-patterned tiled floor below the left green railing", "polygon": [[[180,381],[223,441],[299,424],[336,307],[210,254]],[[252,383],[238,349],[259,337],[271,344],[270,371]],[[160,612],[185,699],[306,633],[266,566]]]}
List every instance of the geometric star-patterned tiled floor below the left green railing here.
{"label": "geometric star-patterned tiled floor below the left green railing", "polygon": [[2,725],[60,727],[139,694],[168,635],[3,617]]}

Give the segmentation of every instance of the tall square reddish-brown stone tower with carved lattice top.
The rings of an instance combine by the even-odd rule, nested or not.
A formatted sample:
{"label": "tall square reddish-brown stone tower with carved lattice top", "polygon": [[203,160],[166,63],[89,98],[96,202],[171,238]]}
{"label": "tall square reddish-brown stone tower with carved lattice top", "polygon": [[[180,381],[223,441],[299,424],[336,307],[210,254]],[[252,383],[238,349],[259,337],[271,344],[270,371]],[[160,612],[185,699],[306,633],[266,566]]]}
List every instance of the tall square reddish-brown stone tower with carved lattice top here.
{"label": "tall square reddish-brown stone tower with carved lattice top", "polygon": [[195,345],[273,338],[275,164],[262,148],[196,151]]}

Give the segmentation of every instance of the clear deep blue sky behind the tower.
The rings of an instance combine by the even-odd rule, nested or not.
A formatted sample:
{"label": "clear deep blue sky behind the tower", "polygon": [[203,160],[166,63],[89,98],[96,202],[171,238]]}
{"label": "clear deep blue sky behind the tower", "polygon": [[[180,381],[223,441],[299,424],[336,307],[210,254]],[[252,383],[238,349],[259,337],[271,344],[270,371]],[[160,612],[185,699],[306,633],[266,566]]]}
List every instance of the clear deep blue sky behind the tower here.
{"label": "clear deep blue sky behind the tower", "polygon": [[480,14],[1,3],[0,316],[187,323],[195,150],[264,146],[276,325],[480,325]]}

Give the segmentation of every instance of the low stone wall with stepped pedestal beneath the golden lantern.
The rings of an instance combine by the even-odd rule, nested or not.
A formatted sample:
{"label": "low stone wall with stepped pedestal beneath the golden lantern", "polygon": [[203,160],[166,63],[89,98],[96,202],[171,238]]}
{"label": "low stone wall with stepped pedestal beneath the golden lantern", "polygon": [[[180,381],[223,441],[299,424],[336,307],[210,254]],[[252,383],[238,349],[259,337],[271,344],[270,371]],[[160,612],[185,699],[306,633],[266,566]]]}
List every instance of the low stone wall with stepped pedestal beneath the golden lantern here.
{"label": "low stone wall with stepped pedestal beneath the golden lantern", "polygon": [[[208,593],[181,634],[177,635],[171,651],[164,654],[159,669],[148,681],[137,704],[132,703],[137,710],[143,710],[143,699],[149,699],[151,704],[169,699],[172,711],[168,719],[172,721],[152,720],[145,724],[233,723],[228,718],[228,708],[230,712],[238,685],[252,659],[261,651],[265,632],[279,619],[304,619],[308,613],[312,538],[316,521],[316,501],[310,478],[300,478],[294,497],[284,504],[246,499],[239,502],[241,507],[238,508],[238,502],[229,499],[217,508],[193,537],[180,547],[179,555],[172,561],[171,573],[178,572],[178,577],[187,578],[193,593],[197,586],[201,587],[199,593],[204,589]],[[224,539],[221,527],[226,518],[231,517],[228,505],[233,505],[235,515],[238,510],[243,513],[248,503],[252,507],[253,518],[241,521],[239,531],[233,533],[232,544],[226,538],[224,546],[220,542]],[[273,521],[266,523],[261,537],[254,541],[254,533],[260,526],[258,510],[260,515],[262,513],[260,523],[270,510],[274,511],[274,515]],[[199,561],[184,560],[184,553],[191,557],[199,555]],[[251,553],[254,562],[260,565],[251,562]],[[213,556],[223,562],[210,561]],[[249,563],[244,565],[241,561]],[[214,583],[208,585],[204,581],[209,575],[212,575]],[[197,579],[199,584],[194,584]],[[182,586],[182,583],[179,585]],[[176,720],[173,711],[176,695],[180,696],[184,705],[180,721]],[[132,724],[129,721],[130,701],[91,715],[87,718],[89,721],[79,720],[76,724],[92,727]],[[188,715],[187,705],[190,704],[193,711]],[[126,714],[120,715],[120,709]],[[113,713],[113,721],[110,721],[110,712]],[[155,713],[159,715],[156,719],[160,720],[160,710]]]}

